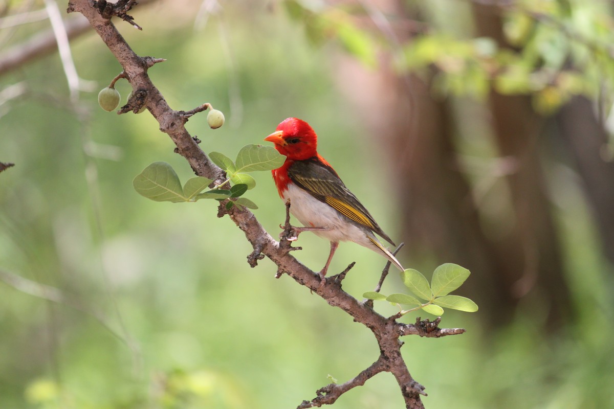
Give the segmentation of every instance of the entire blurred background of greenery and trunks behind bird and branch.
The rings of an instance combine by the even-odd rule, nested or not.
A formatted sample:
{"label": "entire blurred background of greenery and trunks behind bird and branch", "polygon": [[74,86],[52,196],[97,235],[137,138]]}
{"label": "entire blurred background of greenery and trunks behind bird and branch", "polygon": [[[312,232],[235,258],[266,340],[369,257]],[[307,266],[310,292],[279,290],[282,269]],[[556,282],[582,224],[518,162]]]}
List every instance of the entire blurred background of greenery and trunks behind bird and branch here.
{"label": "entire blurred background of greenery and trunks behind bird and branch", "polygon": [[[0,2],[0,408],[287,408],[378,356],[367,331],[263,260],[216,202],[148,201],[154,161],[192,177],[149,112],[98,91],[121,67],[93,33],[71,40],[80,91],[55,50],[7,68],[66,2]],[[143,1],[115,21],[171,107],[211,102],[188,130],[234,157],[286,117],[405,242],[430,277],[472,271],[448,311],[467,333],[406,337],[429,408],[614,406],[612,3],[594,0]],[[72,24],[72,23],[71,23]],[[36,37],[40,36],[40,37]],[[66,61],[70,61],[67,59]],[[122,101],[130,92],[117,83]],[[246,197],[274,236],[268,172]],[[293,253],[314,270],[328,243]],[[332,264],[373,289],[384,262],[352,243]],[[384,292],[403,292],[396,273]],[[395,307],[381,303],[381,313]],[[421,314],[423,317],[426,313]],[[412,322],[416,315],[405,319]],[[431,317],[432,318],[432,317]],[[380,374],[336,408],[398,408]]]}

